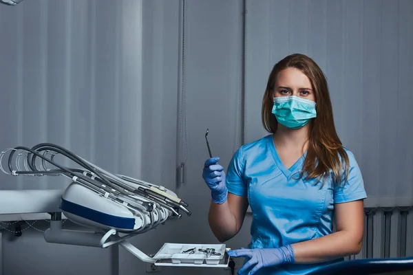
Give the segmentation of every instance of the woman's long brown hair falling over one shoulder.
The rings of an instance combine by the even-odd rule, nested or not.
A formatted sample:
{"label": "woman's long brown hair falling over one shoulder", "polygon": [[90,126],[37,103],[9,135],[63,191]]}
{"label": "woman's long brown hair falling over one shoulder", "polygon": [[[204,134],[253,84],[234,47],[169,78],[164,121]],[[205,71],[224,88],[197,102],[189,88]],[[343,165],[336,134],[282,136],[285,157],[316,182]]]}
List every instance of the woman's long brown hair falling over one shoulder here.
{"label": "woman's long brown hair falling over one shoulder", "polygon": [[326,178],[330,177],[331,169],[334,186],[340,186],[348,178],[348,155],[335,130],[326,76],[313,59],[304,54],[292,54],[275,64],[262,99],[262,124],[270,133],[277,131],[278,122],[271,113],[273,87],[279,72],[287,68],[301,70],[310,79],[315,93],[317,118],[312,119],[310,144],[301,176],[305,174],[305,179],[320,178],[324,184]]}

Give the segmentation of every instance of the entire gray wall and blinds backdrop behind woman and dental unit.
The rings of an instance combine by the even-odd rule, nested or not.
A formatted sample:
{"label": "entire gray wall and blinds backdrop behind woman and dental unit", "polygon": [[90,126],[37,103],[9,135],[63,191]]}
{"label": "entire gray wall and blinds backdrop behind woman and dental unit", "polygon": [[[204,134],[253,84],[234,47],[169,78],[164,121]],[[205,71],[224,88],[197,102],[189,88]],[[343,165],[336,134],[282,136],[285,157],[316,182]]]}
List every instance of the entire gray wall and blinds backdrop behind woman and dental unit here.
{"label": "entire gray wall and blinds backdrop behind woman and dental unit", "polygon": [[[165,242],[217,243],[201,177],[204,133],[209,128],[212,153],[223,166],[243,142],[265,135],[266,78],[276,61],[301,52],[326,72],[337,130],[359,160],[369,195],[411,199],[412,1],[246,2],[245,100],[242,1],[185,1],[183,80],[182,1],[146,0],[142,10],[136,0],[1,5],[0,25],[12,26],[0,30],[1,148],[56,142],[114,173],[176,190],[193,215],[132,239],[144,252]],[[176,189],[181,162],[184,184]],[[394,179],[398,167],[403,173]],[[0,189],[64,188],[56,179],[1,174],[0,180]],[[250,225],[247,217],[226,244],[246,245]],[[109,274],[110,250],[45,243],[36,230],[18,239],[10,234],[3,232],[3,275],[55,274],[56,268]],[[122,248],[119,253],[120,274],[145,274],[144,263]],[[23,256],[30,259],[25,266]],[[195,272],[211,270],[163,268],[164,274]]]}

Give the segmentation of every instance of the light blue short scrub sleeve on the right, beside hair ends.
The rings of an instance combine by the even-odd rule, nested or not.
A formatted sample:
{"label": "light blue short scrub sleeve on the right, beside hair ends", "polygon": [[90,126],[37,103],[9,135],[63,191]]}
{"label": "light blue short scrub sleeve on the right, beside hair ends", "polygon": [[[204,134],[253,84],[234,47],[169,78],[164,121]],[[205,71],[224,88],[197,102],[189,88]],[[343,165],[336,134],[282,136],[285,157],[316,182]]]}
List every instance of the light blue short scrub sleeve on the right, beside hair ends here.
{"label": "light blue short scrub sleeve on the right, beside hair ends", "polygon": [[348,161],[350,164],[348,180],[345,184],[343,184],[343,186],[335,188],[335,203],[357,201],[358,199],[366,199],[367,197],[359,164],[357,164],[356,158],[350,151],[346,150],[346,153],[348,155]]}

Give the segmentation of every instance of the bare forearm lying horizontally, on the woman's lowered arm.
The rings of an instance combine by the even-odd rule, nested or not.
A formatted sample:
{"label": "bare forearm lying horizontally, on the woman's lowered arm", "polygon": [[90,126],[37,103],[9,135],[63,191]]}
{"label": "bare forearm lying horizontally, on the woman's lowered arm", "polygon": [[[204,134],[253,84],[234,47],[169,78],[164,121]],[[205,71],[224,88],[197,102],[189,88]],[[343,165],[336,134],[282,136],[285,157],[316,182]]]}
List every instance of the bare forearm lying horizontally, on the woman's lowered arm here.
{"label": "bare forearm lying horizontally, on the woman's lowered arm", "polygon": [[320,263],[358,254],[362,239],[351,232],[339,231],[302,243],[294,243],[295,263]]}

